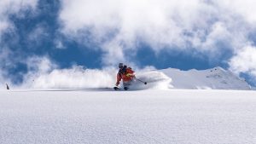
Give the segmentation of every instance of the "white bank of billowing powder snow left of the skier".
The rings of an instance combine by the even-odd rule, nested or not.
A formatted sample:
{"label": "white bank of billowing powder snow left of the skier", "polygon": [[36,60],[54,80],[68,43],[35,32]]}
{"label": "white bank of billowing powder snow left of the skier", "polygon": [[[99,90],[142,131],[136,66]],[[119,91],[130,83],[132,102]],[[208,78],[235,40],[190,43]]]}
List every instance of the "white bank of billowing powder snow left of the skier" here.
{"label": "white bank of billowing powder snow left of the skier", "polygon": [[[115,72],[111,70],[85,69],[73,66],[69,69],[55,69],[32,80],[31,88],[51,89],[100,89],[115,84]],[[31,79],[31,78],[30,78]]]}

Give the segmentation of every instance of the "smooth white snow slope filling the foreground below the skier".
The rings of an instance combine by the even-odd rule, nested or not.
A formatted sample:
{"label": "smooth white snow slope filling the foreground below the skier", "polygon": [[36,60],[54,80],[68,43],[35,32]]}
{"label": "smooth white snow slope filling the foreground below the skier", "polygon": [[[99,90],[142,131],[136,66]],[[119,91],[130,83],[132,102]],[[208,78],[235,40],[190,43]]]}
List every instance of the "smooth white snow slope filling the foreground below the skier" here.
{"label": "smooth white snow slope filling the foreground below the skier", "polygon": [[0,91],[1,144],[253,144],[256,92]]}

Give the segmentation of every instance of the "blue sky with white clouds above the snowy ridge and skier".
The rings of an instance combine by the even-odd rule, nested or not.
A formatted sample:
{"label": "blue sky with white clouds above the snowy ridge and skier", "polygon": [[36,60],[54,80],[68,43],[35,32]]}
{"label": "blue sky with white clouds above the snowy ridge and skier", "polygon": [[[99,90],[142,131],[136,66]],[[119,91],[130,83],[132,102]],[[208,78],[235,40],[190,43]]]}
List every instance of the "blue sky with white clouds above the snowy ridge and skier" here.
{"label": "blue sky with white clouds above the snowy ridge and skier", "polygon": [[21,84],[38,69],[31,61],[47,59],[59,69],[222,66],[255,85],[253,3],[3,0],[0,80]]}

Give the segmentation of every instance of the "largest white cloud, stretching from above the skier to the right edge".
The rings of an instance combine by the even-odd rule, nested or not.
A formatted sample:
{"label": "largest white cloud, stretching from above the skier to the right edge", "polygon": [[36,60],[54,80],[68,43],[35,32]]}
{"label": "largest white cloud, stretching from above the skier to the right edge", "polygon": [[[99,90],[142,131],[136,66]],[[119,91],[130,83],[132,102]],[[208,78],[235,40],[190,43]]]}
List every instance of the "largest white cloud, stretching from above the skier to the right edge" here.
{"label": "largest white cloud, stretching from above the skier to the right edge", "polygon": [[255,10],[248,13],[253,3],[253,0],[64,0],[60,21],[62,32],[68,37],[83,41],[89,37],[85,33],[89,31],[93,37],[90,40],[105,52],[102,61],[107,65],[126,60],[124,51],[136,50],[138,41],[148,43],[156,52],[175,48],[218,55],[219,49],[223,49],[218,46],[220,41],[230,43],[232,48],[228,49],[247,43],[247,32],[256,14]]}

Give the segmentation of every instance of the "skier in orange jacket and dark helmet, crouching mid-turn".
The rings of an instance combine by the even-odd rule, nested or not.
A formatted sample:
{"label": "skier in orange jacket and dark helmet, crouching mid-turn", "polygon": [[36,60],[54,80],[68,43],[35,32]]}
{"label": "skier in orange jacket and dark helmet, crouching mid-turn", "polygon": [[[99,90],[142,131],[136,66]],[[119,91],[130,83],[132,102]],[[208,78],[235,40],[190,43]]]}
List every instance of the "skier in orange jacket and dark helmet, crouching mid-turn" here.
{"label": "skier in orange jacket and dark helmet, crouching mid-turn", "polygon": [[119,72],[117,73],[116,86],[113,89],[119,89],[119,83],[123,80],[124,89],[129,89],[133,79],[135,78],[135,73],[131,70],[131,67],[124,66],[123,63],[119,63]]}

